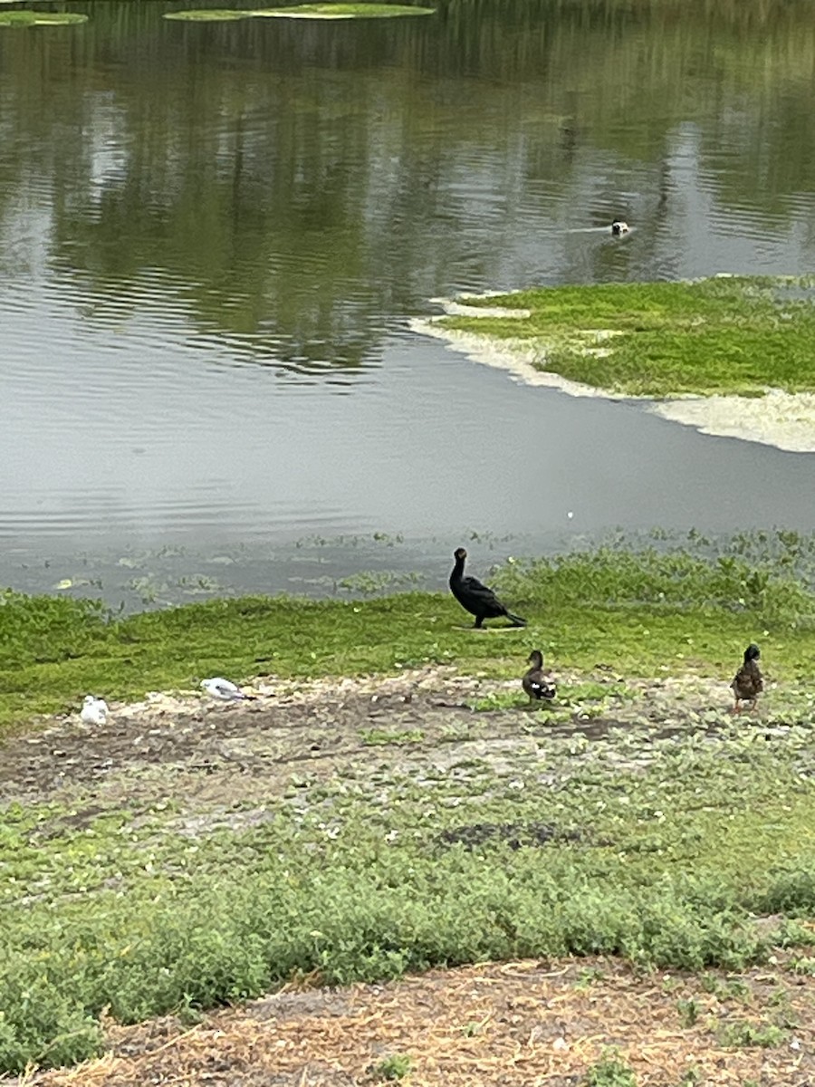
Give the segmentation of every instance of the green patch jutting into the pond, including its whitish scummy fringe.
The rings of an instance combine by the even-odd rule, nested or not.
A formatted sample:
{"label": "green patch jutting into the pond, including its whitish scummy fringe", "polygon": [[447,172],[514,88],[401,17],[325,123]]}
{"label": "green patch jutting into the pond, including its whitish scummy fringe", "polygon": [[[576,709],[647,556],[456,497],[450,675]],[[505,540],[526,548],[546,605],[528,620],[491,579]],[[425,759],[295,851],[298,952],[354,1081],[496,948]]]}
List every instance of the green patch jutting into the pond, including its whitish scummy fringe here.
{"label": "green patch jutting into the pond, including its whitish scummy fringe", "polygon": [[528,385],[642,400],[705,434],[815,452],[813,284],[716,276],[437,300],[415,332]]}

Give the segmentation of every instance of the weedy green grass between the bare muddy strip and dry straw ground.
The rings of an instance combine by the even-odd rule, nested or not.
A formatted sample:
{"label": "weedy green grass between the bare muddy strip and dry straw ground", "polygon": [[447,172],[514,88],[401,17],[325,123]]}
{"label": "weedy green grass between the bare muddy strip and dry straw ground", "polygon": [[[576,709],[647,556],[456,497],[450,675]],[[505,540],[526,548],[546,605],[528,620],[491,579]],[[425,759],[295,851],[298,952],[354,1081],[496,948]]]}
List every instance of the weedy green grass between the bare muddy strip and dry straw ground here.
{"label": "weedy green grass between the bare muddy strip and dry straw ground", "polygon": [[[773,941],[811,940],[750,920],[815,910],[811,730],[775,746],[643,737],[642,750],[636,774],[607,750],[553,746],[511,782],[486,769],[431,788],[398,769],[321,782],[297,804],[269,801],[261,825],[197,837],[172,805],[87,820],[7,807],[0,1069],[98,1051],[104,1008],[125,1022],[192,1014],[314,971],[342,985],[563,954],[738,970]],[[439,837],[507,819],[582,837]],[[728,1044],[775,1038],[739,1029]]]}

